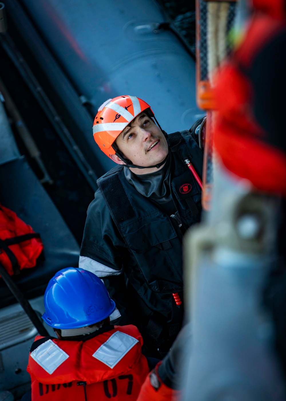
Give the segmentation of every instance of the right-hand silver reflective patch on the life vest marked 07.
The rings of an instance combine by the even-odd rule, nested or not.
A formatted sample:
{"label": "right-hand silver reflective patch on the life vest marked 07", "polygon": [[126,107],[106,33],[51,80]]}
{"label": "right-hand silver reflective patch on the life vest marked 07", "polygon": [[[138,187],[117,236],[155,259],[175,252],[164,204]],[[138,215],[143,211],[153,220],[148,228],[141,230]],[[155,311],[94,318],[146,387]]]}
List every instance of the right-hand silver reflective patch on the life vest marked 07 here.
{"label": "right-hand silver reflective patch on the life vest marked 07", "polygon": [[113,369],[137,342],[138,340],[129,334],[117,331],[95,351],[93,356]]}

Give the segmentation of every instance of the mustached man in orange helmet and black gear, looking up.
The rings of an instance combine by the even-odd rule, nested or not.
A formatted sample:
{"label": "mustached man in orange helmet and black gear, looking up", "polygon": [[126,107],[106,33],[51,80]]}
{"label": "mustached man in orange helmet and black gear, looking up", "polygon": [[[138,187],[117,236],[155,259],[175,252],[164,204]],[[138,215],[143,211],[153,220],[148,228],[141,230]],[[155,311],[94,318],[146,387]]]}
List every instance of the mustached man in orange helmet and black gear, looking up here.
{"label": "mustached man in orange helmet and black gear, looking up", "polygon": [[[157,123],[157,124],[156,124]],[[79,266],[103,279],[116,324],[135,324],[149,356],[161,358],[183,317],[181,242],[200,219],[203,154],[192,129],[167,136],[151,107],[135,96],[109,99],[93,126],[117,166],[99,178],[87,213]]]}

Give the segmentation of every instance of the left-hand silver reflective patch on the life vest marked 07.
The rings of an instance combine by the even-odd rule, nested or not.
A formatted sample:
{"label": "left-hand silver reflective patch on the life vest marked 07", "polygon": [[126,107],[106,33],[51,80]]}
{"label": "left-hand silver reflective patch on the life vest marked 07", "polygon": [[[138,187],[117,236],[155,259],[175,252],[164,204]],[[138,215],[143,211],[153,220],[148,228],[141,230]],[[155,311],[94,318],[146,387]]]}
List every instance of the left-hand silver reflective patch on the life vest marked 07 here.
{"label": "left-hand silver reflective patch on the life vest marked 07", "polygon": [[30,356],[40,365],[49,375],[69,357],[59,346],[52,340],[43,342],[38,346]]}

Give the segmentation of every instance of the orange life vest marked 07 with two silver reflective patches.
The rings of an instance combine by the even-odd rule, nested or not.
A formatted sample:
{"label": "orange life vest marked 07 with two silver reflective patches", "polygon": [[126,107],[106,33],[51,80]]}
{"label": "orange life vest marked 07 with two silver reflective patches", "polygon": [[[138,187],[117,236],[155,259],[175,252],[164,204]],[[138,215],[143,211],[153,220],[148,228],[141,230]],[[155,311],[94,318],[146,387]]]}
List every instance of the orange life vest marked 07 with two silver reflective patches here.
{"label": "orange life vest marked 07 with two silver reflective patches", "polygon": [[[135,326],[115,326],[87,341],[37,336],[29,356],[32,401],[136,400],[149,368]],[[35,344],[36,345],[36,344]]]}

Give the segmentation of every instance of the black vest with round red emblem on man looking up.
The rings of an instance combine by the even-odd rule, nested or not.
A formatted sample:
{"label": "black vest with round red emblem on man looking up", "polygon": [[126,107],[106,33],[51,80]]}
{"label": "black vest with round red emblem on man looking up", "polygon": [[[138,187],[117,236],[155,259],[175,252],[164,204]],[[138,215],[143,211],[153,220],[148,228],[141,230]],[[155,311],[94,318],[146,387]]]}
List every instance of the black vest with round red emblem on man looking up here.
{"label": "black vest with round red emblem on man looking up", "polygon": [[[201,177],[203,154],[189,131],[170,134],[168,140],[172,197],[187,229],[200,219],[201,189],[184,160],[191,160]],[[181,229],[156,203],[127,182],[123,168],[113,168],[97,183],[143,277],[139,288],[138,280],[129,277],[131,285],[152,311],[167,316],[172,296],[166,295],[183,290]]]}

